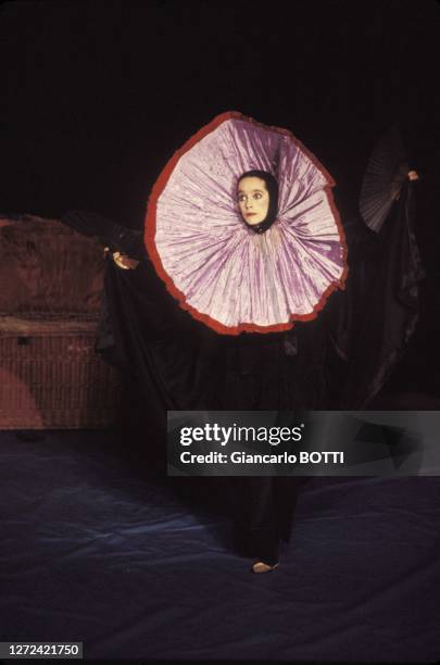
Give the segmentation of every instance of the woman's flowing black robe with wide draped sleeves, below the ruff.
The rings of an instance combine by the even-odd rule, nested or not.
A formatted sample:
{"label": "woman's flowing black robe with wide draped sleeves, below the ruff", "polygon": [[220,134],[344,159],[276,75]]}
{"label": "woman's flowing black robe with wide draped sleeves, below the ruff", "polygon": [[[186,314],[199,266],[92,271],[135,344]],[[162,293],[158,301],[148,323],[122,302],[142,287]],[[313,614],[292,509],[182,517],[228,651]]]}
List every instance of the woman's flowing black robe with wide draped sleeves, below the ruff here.
{"label": "woman's flowing black robe with wide draped sleeves, below the ruff", "polygon": [[[165,455],[167,410],[367,406],[417,321],[423,271],[412,189],[408,183],[379,235],[355,221],[348,226],[345,291],[334,293],[315,319],[286,332],[219,335],[179,308],[144,250],[136,252],[140,263],[134,271],[117,267],[108,256],[97,351],[125,372],[129,399],[138,404],[137,425],[152,429],[149,439],[162,448],[159,455]],[[87,225],[87,213],[81,215]],[[90,217],[90,226],[96,219]],[[105,240],[103,228],[101,218]],[[113,223],[109,229],[113,240],[131,241]],[[279,540],[290,536],[300,480],[217,480],[217,490],[238,498],[237,547],[275,563]]]}

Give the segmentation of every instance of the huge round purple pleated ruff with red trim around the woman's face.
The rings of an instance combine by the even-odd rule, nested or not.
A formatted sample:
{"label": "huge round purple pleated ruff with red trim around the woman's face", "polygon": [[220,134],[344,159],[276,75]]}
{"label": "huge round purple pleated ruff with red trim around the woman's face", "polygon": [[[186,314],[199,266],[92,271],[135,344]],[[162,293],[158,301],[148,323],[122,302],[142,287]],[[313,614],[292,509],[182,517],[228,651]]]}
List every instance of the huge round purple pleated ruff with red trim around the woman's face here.
{"label": "huge round purple pleated ruff with red trim around the woman's face", "polygon": [[[221,331],[282,329],[313,318],[343,285],[334,181],[288,131],[224,116],[162,175],[153,237],[160,274],[183,306]],[[277,218],[262,235],[244,224],[236,197],[238,178],[254,168],[279,185]]]}

